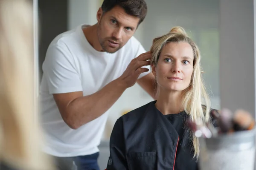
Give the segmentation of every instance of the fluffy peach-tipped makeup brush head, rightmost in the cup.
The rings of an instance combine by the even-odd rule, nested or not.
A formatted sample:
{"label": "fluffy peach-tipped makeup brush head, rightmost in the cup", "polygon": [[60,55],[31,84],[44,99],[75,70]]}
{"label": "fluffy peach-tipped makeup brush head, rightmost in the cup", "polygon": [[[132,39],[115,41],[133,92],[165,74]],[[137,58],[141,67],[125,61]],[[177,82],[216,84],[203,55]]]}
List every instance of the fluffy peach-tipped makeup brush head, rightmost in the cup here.
{"label": "fluffy peach-tipped makeup brush head, rightmost in the cup", "polygon": [[252,130],[255,121],[251,114],[244,110],[237,110],[233,116],[233,130]]}

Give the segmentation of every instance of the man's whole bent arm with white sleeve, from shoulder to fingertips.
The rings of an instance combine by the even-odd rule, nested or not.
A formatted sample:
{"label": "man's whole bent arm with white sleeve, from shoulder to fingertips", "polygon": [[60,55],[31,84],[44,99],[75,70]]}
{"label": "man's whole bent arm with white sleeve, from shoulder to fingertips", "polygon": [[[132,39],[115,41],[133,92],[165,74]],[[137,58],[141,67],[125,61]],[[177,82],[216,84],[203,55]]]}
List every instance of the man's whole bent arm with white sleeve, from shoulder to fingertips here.
{"label": "man's whole bent arm with white sleeve, from shoulder to fingertips", "polygon": [[[73,70],[74,67],[69,65],[71,61],[65,62],[65,59],[69,58],[67,57],[68,51],[61,49],[52,49],[52,51],[53,53],[49,54],[55,56],[48,59],[44,72],[48,79],[49,89],[53,89],[50,93],[53,94],[64,122],[73,129],[79,128],[108,111],[125,89],[134,85],[141,73],[148,71],[147,68],[141,67],[149,65],[149,61],[146,60],[151,58],[150,53],[141,54],[131,61],[121,77],[105,85],[96,93],[83,96],[82,87],[79,87],[81,84],[79,76]],[[59,61],[61,63],[58,63]],[[74,82],[77,84],[76,88],[72,86]],[[80,90],[72,91],[73,89]]]}

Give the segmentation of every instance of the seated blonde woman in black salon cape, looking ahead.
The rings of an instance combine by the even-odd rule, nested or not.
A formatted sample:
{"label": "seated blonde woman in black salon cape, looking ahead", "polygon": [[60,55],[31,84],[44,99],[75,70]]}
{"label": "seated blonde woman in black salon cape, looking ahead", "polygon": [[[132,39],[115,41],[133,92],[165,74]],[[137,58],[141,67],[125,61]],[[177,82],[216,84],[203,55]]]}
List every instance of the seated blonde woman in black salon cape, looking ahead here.
{"label": "seated blonde woman in black salon cape, looking ahead", "polygon": [[157,101],[116,121],[107,170],[197,170],[199,142],[185,121],[210,122],[200,51],[175,27],[153,40],[151,53]]}

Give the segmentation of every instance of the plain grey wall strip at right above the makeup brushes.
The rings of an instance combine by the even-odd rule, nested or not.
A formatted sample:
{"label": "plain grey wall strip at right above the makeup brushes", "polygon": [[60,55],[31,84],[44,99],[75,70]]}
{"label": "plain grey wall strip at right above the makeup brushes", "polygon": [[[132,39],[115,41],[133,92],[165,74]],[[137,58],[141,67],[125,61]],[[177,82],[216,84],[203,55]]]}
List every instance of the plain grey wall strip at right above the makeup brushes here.
{"label": "plain grey wall strip at right above the makeup brushes", "polygon": [[255,114],[253,0],[220,0],[221,107]]}

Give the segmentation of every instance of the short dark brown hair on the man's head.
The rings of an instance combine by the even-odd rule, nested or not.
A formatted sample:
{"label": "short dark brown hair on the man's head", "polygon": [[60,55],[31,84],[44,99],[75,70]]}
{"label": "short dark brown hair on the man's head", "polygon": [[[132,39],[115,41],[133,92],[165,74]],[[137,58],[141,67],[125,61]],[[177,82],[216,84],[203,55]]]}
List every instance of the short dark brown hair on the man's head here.
{"label": "short dark brown hair on the man's head", "polygon": [[104,0],[101,6],[103,14],[115,6],[120,6],[127,14],[140,18],[138,25],[144,20],[148,10],[144,0]]}

